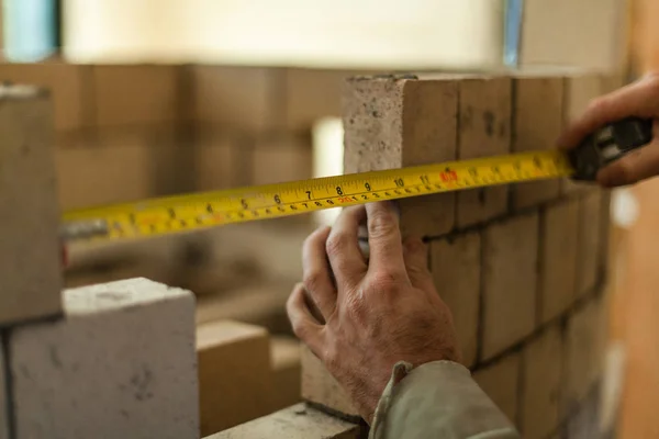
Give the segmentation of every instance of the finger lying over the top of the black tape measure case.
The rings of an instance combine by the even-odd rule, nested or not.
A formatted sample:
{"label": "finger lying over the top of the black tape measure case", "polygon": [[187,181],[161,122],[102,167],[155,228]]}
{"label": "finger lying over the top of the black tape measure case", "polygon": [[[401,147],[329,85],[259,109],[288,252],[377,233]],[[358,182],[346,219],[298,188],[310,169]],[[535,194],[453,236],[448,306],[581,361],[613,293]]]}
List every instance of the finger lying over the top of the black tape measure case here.
{"label": "finger lying over the top of the black tape measure case", "polygon": [[589,109],[560,136],[561,149],[573,148],[589,134],[626,117],[659,116],[659,76],[648,76],[595,99]]}

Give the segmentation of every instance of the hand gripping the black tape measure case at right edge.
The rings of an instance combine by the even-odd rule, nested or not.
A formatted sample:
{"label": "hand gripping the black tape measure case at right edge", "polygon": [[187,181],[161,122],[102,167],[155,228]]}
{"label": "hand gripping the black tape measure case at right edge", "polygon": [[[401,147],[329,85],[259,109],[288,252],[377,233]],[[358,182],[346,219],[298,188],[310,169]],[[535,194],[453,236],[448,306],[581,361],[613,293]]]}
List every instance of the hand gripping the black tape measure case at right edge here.
{"label": "hand gripping the black tape measure case at right edge", "polygon": [[659,72],[595,99],[568,126],[558,140],[559,147],[573,148],[602,126],[632,116],[655,120],[655,140],[600,170],[597,182],[613,188],[655,177],[659,175]]}

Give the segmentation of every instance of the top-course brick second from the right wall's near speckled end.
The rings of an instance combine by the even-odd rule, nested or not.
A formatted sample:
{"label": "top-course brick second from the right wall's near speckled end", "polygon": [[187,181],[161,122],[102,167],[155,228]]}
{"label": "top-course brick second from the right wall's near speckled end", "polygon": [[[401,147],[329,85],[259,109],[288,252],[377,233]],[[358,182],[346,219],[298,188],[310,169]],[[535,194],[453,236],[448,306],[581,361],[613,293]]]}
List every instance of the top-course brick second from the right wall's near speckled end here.
{"label": "top-course brick second from the right wall's near speckled end", "polygon": [[[512,80],[510,78],[460,81],[458,159],[469,160],[510,154]],[[503,215],[509,188],[482,188],[457,194],[457,226],[465,227]]]}

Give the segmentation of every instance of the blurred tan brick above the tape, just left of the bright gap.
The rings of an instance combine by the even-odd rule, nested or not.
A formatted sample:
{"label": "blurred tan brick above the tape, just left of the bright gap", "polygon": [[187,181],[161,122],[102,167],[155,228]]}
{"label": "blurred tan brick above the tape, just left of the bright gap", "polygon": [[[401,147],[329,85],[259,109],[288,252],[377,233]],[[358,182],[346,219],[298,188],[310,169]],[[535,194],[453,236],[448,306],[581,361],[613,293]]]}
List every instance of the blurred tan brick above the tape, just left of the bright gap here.
{"label": "blurred tan brick above the tape, just left of the bright gap", "polygon": [[254,147],[252,175],[255,184],[310,179],[312,169],[311,139],[259,139]]}

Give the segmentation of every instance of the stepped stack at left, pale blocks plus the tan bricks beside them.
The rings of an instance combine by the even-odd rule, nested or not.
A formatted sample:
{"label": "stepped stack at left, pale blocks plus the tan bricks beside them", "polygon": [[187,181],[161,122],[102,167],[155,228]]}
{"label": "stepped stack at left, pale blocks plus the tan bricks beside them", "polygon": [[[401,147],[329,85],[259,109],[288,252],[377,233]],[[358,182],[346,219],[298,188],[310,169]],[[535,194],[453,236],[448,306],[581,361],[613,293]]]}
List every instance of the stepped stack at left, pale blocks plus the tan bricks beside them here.
{"label": "stepped stack at left, pale blocks plus the tan bricks beside them", "polygon": [[[189,291],[146,279],[62,291],[53,99],[32,86],[0,99],[0,439],[199,438],[299,401],[298,342],[197,327]],[[310,412],[308,431],[323,418],[343,425]]]}

